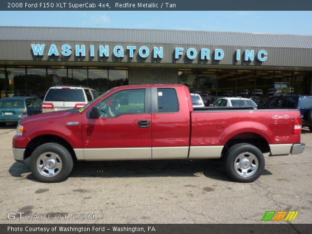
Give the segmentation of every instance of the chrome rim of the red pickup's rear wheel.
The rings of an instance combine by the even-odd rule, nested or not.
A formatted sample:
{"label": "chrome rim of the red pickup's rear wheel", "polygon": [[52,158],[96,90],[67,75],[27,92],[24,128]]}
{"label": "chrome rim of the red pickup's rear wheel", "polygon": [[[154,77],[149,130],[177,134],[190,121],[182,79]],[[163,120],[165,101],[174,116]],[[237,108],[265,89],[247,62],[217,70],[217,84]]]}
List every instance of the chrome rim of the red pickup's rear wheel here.
{"label": "chrome rim of the red pickup's rear wheel", "polygon": [[259,162],[257,157],[250,152],[239,154],[234,161],[234,169],[239,176],[252,176],[258,170],[258,167]]}

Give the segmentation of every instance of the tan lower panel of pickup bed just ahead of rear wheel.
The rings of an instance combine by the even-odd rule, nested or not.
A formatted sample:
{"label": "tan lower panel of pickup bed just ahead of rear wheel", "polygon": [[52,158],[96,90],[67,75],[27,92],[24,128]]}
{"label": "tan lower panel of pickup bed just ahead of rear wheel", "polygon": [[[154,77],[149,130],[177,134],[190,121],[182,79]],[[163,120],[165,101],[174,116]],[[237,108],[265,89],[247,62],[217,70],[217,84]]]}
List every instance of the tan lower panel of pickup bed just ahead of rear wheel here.
{"label": "tan lower panel of pickup bed just ahead of rear wheel", "polygon": [[223,146],[191,146],[189,158],[220,158]]}

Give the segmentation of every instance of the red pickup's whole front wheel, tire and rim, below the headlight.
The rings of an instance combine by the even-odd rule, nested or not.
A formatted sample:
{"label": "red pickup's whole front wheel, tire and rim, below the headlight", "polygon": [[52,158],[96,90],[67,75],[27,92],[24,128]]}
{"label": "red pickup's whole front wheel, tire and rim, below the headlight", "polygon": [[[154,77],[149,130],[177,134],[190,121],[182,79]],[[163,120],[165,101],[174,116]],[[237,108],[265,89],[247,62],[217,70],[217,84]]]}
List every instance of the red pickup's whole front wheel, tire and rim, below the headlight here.
{"label": "red pickup's whole front wheel, tire and rim, below the headlight", "polygon": [[57,143],[45,143],[32,153],[30,169],[41,182],[61,182],[73,170],[73,158],[64,146]]}

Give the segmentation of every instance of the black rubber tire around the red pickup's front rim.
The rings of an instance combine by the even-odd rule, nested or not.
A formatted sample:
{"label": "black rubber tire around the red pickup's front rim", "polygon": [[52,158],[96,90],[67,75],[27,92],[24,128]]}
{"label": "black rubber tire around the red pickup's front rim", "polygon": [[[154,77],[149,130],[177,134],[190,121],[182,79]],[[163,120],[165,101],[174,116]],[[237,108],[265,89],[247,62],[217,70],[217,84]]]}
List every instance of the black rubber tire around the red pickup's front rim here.
{"label": "black rubber tire around the red pickup's front rim", "polygon": [[[61,169],[59,170],[58,174],[53,177],[44,176],[39,172],[37,168],[37,160],[40,155],[51,152],[55,153],[60,158],[61,162]],[[49,155],[49,154],[47,154]],[[34,152],[31,154],[30,159],[30,169],[33,175],[41,182],[45,183],[57,183],[61,182],[69,176],[71,171],[73,170],[73,158],[69,151],[62,145],[58,143],[45,143],[37,147]]]}

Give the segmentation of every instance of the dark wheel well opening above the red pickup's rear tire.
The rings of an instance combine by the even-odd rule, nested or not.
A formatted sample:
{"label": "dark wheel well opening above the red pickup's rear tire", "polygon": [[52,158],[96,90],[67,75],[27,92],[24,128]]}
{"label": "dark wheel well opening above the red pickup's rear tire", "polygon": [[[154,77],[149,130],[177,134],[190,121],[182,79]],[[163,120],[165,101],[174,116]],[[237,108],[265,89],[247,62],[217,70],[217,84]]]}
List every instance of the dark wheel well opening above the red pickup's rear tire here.
{"label": "dark wheel well opening above the red pickup's rear tire", "polygon": [[252,144],[257,147],[262,153],[270,152],[269,143],[264,137],[257,133],[246,132],[231,137],[224,145],[221,155],[224,155],[231,146],[238,143]]}

